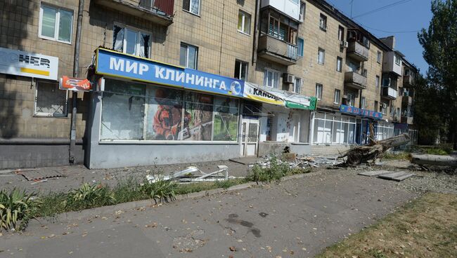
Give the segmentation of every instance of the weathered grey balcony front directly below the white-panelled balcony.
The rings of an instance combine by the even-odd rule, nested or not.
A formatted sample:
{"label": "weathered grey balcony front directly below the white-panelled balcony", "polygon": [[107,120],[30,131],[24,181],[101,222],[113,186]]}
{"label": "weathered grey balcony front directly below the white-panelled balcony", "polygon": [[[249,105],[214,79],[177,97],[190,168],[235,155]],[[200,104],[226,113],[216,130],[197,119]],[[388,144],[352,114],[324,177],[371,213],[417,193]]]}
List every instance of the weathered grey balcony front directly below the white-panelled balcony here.
{"label": "weathered grey balcony front directly below the white-panelled balcony", "polygon": [[276,39],[268,34],[259,37],[259,57],[284,65],[297,64],[297,46]]}

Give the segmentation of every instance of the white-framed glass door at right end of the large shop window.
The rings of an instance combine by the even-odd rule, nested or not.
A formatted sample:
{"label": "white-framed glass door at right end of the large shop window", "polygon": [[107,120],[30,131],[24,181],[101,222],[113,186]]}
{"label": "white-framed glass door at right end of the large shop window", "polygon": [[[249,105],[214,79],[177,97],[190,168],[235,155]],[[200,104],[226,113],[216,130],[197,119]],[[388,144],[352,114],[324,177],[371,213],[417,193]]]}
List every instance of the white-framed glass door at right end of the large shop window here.
{"label": "white-framed glass door at right end of the large shop window", "polygon": [[243,118],[241,125],[241,156],[256,156],[259,142],[259,119]]}

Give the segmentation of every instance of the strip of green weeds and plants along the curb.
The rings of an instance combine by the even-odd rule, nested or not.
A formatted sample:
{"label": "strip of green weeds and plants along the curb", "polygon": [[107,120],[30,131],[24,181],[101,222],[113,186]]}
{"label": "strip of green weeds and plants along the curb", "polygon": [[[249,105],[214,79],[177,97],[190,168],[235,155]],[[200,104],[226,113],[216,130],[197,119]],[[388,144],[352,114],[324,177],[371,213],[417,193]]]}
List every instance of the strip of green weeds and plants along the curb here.
{"label": "strip of green weeds and plants along the curb", "polygon": [[216,182],[178,184],[174,181],[158,180],[150,183],[146,179],[138,181],[133,177],[119,182],[115,187],[104,184],[82,184],[79,189],[67,193],[49,193],[44,196],[27,194],[14,189],[11,193],[0,191],[0,230],[23,229],[30,219],[52,217],[63,212],[72,212],[105,205],[115,205],[131,201],[154,199],[157,202],[174,201],[178,194],[191,194],[212,189],[228,189],[246,182],[271,182],[285,175],[295,175],[311,170],[289,168],[276,158],[271,159],[270,168],[256,166],[245,179],[228,179]]}

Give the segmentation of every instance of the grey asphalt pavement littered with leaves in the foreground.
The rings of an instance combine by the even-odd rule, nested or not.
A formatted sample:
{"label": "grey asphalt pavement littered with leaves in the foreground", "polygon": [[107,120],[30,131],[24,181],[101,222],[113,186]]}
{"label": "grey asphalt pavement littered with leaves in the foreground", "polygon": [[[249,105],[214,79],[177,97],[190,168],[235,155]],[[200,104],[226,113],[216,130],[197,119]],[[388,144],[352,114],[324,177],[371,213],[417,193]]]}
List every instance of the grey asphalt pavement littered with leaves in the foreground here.
{"label": "grey asphalt pavement littered with leaves in the foreground", "polygon": [[281,184],[33,223],[0,237],[0,257],[313,257],[415,194],[329,170]]}

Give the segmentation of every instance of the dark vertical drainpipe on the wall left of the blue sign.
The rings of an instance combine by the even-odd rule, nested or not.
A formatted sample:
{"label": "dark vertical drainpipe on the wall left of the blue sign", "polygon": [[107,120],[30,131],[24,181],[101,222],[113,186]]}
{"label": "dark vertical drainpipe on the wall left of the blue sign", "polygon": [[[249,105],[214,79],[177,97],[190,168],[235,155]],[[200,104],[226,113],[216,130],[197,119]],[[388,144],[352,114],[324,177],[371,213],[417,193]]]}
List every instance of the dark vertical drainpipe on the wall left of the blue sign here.
{"label": "dark vertical drainpipe on the wall left of the blue sign", "polygon": [[[75,57],[73,60],[73,77],[79,76],[79,45],[81,44],[82,15],[84,11],[84,0],[79,0],[78,20],[76,27]],[[76,115],[77,115],[77,97],[76,91],[72,92],[72,121],[70,129],[70,151],[68,161],[70,164],[75,163],[76,148]]]}

